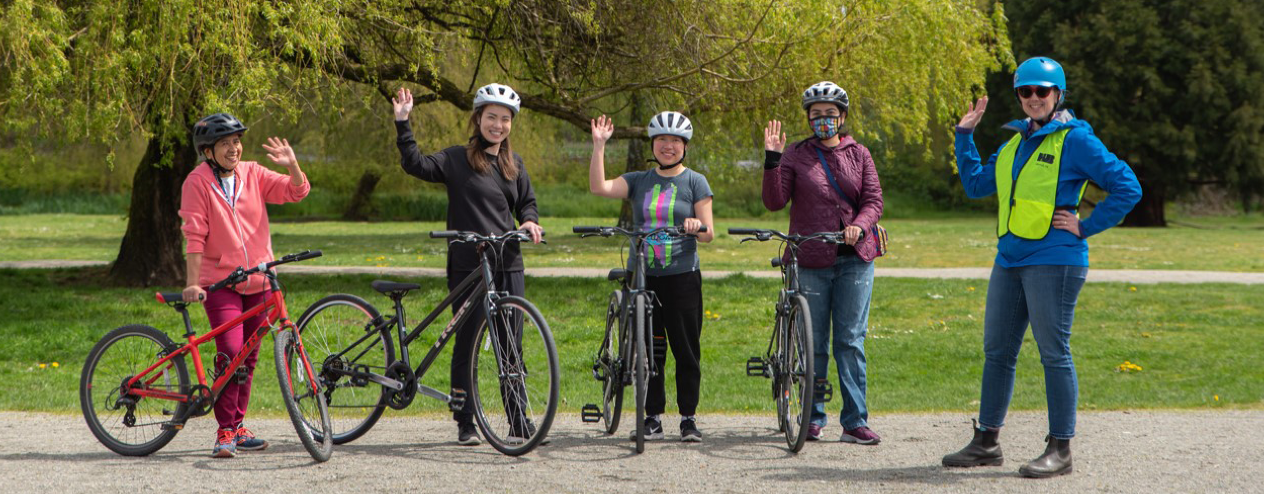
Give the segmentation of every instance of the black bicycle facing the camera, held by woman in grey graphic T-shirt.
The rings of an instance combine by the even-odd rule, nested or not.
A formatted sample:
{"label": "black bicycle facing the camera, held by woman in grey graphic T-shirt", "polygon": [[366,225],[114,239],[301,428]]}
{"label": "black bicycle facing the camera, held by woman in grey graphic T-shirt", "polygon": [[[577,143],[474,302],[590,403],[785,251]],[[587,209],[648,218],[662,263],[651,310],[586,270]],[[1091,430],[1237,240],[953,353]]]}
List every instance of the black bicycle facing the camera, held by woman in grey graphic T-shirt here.
{"label": "black bicycle facing the camera, held by woman in grey graphic T-shirt", "polygon": [[[611,293],[611,302],[605,308],[605,336],[593,359],[593,378],[602,383],[602,406],[585,404],[580,418],[584,422],[605,421],[605,433],[617,432],[623,413],[623,388],[632,385],[636,402],[637,430],[633,433],[636,452],[643,452],[645,431],[641,431],[641,427],[645,425],[645,397],[650,377],[657,374],[651,363],[655,351],[666,350],[646,342],[653,327],[655,303],[653,292],[645,288],[646,240],[694,235],[686,234],[681,226],[664,226],[647,231],[628,231],[618,226],[575,226],[573,231],[583,234],[581,236],[623,235],[635,251],[631,270],[616,268],[605,277],[612,282],[619,282],[621,287]],[[707,231],[707,226],[700,231]]]}

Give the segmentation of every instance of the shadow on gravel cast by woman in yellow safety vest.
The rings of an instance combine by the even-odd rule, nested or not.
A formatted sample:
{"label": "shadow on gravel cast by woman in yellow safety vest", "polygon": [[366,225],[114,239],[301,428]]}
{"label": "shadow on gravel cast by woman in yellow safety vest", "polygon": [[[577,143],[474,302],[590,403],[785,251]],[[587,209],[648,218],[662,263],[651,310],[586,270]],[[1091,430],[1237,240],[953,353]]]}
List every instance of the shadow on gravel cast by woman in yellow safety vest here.
{"label": "shadow on gravel cast by woman in yellow safety vest", "polygon": [[[752,473],[766,471],[762,469]],[[825,469],[818,466],[790,466],[777,469],[775,474],[763,475],[766,481],[801,483],[804,480],[819,481],[852,481],[852,483],[899,483],[899,484],[925,484],[925,485],[954,485],[961,483],[973,483],[978,479],[1014,479],[1018,474],[1005,467],[977,467],[977,469],[945,469],[942,466],[906,466],[900,469],[870,469],[857,470],[847,467]]]}

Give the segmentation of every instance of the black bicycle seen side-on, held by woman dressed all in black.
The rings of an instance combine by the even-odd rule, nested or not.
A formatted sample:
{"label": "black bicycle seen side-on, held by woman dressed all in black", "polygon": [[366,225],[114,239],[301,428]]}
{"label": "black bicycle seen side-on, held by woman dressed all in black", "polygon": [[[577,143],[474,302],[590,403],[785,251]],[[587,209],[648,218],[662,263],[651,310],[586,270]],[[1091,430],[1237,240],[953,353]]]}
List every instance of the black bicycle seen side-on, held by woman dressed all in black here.
{"label": "black bicycle seen side-on, held by woman dressed all in black", "polygon": [[[498,291],[488,249],[509,241],[530,241],[525,230],[501,235],[473,231],[431,231],[431,238],[478,245],[479,270],[470,273],[412,332],[406,332],[403,298],[421,288],[415,283],[375,280],[373,289],[391,298],[393,316],[382,316],[351,294],[326,297],[298,318],[312,361],[319,363],[334,423],[334,443],[363,436],[387,407],[403,409],[417,393],[439,399],[454,411],[473,399],[474,417],[483,437],[498,451],[518,456],[530,452],[549,435],[557,411],[559,363],[552,332],[540,310],[522,297]],[[417,340],[459,297],[465,302],[439,334],[416,368],[408,345]],[[482,312],[470,355],[469,390],[449,395],[420,383],[447,341],[469,317]],[[394,331],[392,331],[394,330]],[[398,354],[392,344],[399,339]]]}

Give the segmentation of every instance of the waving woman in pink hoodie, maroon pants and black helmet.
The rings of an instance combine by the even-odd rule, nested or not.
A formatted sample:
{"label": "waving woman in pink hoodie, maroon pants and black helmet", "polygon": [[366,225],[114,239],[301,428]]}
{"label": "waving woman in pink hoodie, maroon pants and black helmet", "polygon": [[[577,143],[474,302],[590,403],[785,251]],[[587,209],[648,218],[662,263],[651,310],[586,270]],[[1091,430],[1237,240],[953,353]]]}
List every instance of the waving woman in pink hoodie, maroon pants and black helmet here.
{"label": "waving woman in pink hoodie, maroon pants and black helmet", "polygon": [[[273,260],[265,203],[297,202],[311,186],[298,169],[298,158],[286,139],[268,138],[263,149],[273,163],[286,167],[288,176],[241,160],[241,135],[246,126],[229,114],[215,114],[193,125],[193,147],[205,160],[185,178],[179,216],[185,220],[185,263],[188,287],[185,299],[205,301],[211,327],[231,321],[263,303],[270,293],[262,274],[245,283],[206,293],[207,287],[226,278],[238,267],[253,267]],[[246,335],[263,325],[267,313],[225,331],[215,339],[216,373],[222,373],[231,355],[241,351]],[[234,457],[238,450],[259,451],[268,441],[243,426],[250,403],[250,380],[258,351],[245,359],[236,379],[229,380],[215,402],[219,422],[212,457]]]}

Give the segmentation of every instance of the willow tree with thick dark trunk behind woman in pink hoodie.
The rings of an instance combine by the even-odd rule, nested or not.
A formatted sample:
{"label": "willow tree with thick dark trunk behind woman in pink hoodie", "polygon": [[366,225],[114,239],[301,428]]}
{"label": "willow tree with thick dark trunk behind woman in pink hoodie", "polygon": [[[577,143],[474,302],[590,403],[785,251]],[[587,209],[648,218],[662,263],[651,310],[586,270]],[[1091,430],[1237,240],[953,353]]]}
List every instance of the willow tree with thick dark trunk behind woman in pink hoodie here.
{"label": "willow tree with thick dark trunk behind woman in pink hoodie", "polygon": [[[0,13],[0,121],[10,133],[105,144],[143,134],[110,274],[178,284],[179,188],[198,162],[192,124],[212,111],[296,109],[287,97],[315,73],[278,61],[287,51],[326,53],[340,20],[327,14],[306,3],[15,0]],[[260,44],[259,32],[287,44]]]}

